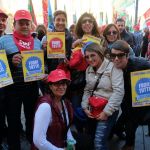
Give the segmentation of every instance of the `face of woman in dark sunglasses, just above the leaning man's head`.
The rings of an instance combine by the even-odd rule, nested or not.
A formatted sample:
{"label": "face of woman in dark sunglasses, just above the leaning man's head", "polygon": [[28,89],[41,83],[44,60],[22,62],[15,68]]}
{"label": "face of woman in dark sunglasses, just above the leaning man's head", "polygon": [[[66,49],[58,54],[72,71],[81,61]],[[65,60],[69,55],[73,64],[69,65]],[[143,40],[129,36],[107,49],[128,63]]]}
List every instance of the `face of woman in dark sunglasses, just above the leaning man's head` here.
{"label": "face of woman in dark sunglasses, just above the leaning man's head", "polygon": [[110,29],[106,33],[107,41],[110,43],[115,42],[118,38],[118,34],[119,33],[114,26],[110,27]]}

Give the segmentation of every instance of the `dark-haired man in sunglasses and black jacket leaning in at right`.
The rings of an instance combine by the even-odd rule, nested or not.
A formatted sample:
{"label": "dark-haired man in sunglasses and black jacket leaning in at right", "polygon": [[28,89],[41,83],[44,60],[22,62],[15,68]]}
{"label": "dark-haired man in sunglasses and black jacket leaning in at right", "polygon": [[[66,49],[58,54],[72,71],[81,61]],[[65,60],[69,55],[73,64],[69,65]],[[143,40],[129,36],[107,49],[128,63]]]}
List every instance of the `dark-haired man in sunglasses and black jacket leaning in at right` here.
{"label": "dark-haired man in sunglasses and black jacket leaning in at right", "polygon": [[123,69],[125,95],[121,105],[122,114],[119,117],[116,130],[122,130],[125,125],[126,144],[122,150],[134,150],[135,132],[143,118],[150,113],[150,107],[132,107],[132,91],[130,73],[134,71],[150,69],[150,62],[144,58],[129,57],[129,45],[122,40],[118,40],[112,44],[111,60],[119,69]]}

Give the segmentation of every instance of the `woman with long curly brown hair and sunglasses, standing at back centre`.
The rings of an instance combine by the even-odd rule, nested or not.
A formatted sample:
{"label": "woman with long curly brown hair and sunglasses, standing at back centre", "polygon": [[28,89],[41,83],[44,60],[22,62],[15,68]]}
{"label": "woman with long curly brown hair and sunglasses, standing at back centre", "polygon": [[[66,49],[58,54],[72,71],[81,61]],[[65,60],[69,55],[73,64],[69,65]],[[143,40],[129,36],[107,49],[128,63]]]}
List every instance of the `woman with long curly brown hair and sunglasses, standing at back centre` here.
{"label": "woman with long curly brown hair and sunglasses, standing at back centre", "polygon": [[[69,68],[71,69],[71,101],[73,108],[76,110],[81,108],[81,100],[83,95],[83,89],[85,86],[85,70],[87,68],[87,63],[84,59],[84,54],[82,52],[83,47],[87,44],[86,39],[83,38],[84,35],[91,35],[101,39],[102,43],[105,43],[104,38],[99,34],[98,25],[94,16],[90,13],[84,13],[80,16],[76,28],[75,34],[77,39],[74,41],[72,47],[72,54],[69,61]],[[80,80],[83,79],[83,80]],[[79,82],[76,83],[76,80]],[[79,132],[83,131],[84,123],[77,116],[77,121],[75,121],[75,126]],[[79,122],[78,122],[79,121]]]}

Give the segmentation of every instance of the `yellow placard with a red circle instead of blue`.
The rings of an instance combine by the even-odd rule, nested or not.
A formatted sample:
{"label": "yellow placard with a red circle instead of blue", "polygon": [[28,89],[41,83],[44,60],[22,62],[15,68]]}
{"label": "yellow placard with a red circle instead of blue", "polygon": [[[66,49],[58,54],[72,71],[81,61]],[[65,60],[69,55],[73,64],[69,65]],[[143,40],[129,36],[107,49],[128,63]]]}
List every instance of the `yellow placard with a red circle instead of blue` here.
{"label": "yellow placard with a red circle instead of blue", "polygon": [[65,58],[65,32],[47,33],[47,58]]}

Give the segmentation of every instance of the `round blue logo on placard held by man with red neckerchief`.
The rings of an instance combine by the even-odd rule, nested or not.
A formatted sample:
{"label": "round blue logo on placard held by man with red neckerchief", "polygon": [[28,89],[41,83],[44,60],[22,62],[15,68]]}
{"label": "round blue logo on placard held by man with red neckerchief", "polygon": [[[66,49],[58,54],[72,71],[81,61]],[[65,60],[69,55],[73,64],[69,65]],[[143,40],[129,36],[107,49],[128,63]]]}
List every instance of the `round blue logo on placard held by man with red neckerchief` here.
{"label": "round blue logo on placard held by man with red neckerchief", "polygon": [[42,62],[39,57],[33,56],[26,61],[27,75],[42,72]]}

